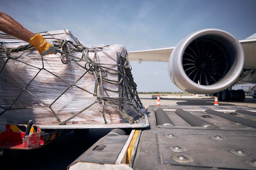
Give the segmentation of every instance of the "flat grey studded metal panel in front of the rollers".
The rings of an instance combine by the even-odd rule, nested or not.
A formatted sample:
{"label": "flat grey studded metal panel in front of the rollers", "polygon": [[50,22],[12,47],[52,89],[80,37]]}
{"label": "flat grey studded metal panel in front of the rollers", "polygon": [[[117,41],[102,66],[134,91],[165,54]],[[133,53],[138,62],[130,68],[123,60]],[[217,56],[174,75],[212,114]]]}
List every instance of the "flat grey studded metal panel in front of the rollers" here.
{"label": "flat grey studded metal panel in front of the rollers", "polygon": [[[164,129],[157,133],[162,163],[194,167],[228,168],[253,170],[246,160],[256,158],[255,131],[205,130],[205,129]],[[166,137],[169,133],[176,137]],[[219,137],[216,137],[219,136]],[[223,139],[223,140],[218,140]],[[182,149],[175,148],[183,148]],[[231,150],[244,151],[245,156],[235,155]],[[243,151],[242,151],[243,150]],[[182,163],[180,155],[190,157]],[[176,160],[176,161],[175,161]]]}

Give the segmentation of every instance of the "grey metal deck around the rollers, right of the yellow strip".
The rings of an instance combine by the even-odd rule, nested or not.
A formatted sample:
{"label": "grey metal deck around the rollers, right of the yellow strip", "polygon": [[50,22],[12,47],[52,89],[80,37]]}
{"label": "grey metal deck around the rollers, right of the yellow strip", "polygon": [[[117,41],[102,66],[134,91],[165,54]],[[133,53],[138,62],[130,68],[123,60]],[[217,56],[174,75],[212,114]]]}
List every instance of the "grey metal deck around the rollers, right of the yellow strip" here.
{"label": "grey metal deck around the rollers, right of the yellow strip", "polygon": [[[162,108],[175,126],[157,126],[155,123],[157,108]],[[191,126],[175,113],[178,108],[216,127]],[[256,160],[256,129],[211,115],[205,112],[208,108],[227,115],[235,113],[237,109],[256,111],[256,108],[247,106],[149,106],[150,128],[141,133],[132,168],[134,170],[210,170],[213,168],[256,170],[256,167],[246,163]],[[242,113],[237,114],[232,116],[248,120],[253,117]],[[210,115],[212,118],[204,115]],[[175,152],[182,151],[182,148],[184,152]],[[179,157],[180,155],[189,157],[191,160]],[[179,158],[183,158],[183,162],[188,163],[182,163]]]}

